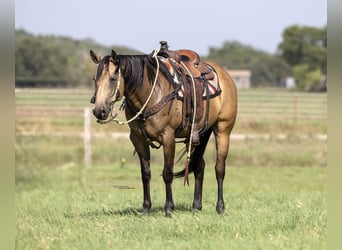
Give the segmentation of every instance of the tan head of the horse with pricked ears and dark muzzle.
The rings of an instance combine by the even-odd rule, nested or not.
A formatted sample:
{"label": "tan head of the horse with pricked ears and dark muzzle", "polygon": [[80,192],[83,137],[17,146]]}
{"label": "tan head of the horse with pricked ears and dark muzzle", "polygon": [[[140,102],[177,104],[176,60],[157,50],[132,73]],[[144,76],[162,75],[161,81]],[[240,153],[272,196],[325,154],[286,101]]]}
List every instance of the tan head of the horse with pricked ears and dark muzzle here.
{"label": "tan head of the horse with pricked ears and dark muzzle", "polygon": [[120,60],[116,52],[112,50],[111,55],[101,58],[90,50],[90,57],[97,65],[93,77],[95,82],[95,93],[90,102],[95,105],[93,114],[98,120],[106,120],[112,112],[115,102],[121,100],[124,93]]}

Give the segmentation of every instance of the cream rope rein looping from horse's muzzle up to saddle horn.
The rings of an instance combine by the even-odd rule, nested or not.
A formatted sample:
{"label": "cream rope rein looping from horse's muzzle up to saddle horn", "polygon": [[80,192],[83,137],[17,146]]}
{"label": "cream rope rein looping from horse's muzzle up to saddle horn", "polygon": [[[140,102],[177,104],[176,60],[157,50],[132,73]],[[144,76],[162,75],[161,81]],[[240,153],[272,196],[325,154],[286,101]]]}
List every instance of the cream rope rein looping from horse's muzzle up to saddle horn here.
{"label": "cream rope rein looping from horse's muzzle up to saddle horn", "polygon": [[[157,79],[158,79],[158,74],[159,74],[159,61],[158,61],[158,58],[157,58],[157,54],[159,52],[159,49],[155,49],[153,51],[153,55],[152,57],[154,57],[156,59],[156,62],[157,62],[157,69],[156,69],[156,76],[154,78],[154,82],[153,82],[153,85],[152,85],[152,89],[151,89],[151,92],[150,92],[150,95],[148,96],[146,102],[144,103],[144,105],[141,107],[141,109],[139,110],[139,112],[133,116],[131,119],[127,120],[127,121],[120,121],[119,119],[117,119],[116,117],[119,115],[119,113],[124,109],[124,104],[125,104],[125,101],[121,104],[120,108],[118,109],[118,111],[116,111],[115,114],[113,114],[113,110],[114,110],[114,104],[115,104],[115,101],[112,102],[112,105],[111,105],[111,112],[110,112],[110,118],[105,120],[105,121],[102,121],[102,120],[97,120],[98,123],[101,123],[101,124],[105,124],[105,123],[109,123],[109,122],[116,122],[117,124],[119,125],[125,125],[125,124],[128,124],[128,123],[131,123],[133,122],[134,120],[136,120],[141,114],[142,112],[145,110],[147,104],[149,103],[151,97],[152,97],[152,94],[154,92],[154,89],[156,87],[156,84],[157,84]],[[120,89],[120,83],[121,83],[121,70],[119,69],[119,77],[118,77],[118,83],[116,85],[116,89],[115,89],[115,92],[114,92],[114,97],[117,96],[118,92],[119,92],[119,89]]]}

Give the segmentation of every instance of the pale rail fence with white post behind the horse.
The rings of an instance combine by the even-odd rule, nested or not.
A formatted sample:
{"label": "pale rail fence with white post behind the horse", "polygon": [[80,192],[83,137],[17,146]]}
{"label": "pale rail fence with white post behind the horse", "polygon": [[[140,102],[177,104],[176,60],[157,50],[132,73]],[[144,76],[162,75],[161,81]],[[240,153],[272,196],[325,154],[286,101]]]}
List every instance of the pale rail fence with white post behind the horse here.
{"label": "pale rail fence with white post behind the horse", "polygon": [[[83,119],[83,133],[79,136],[84,142],[84,164],[91,164],[91,105],[88,105],[91,90],[82,89],[19,89],[16,90],[16,117],[17,118],[67,118],[78,117]],[[239,120],[326,120],[327,95],[291,93],[279,91],[240,91],[238,93]],[[24,134],[23,132],[20,132]],[[34,135],[26,132],[26,134]],[[51,133],[54,135],[61,133]],[[68,132],[68,134],[72,134]],[[74,133],[75,134],[75,133]],[[62,133],[62,135],[65,135]],[[126,135],[125,135],[126,136]],[[234,137],[234,135],[232,135]],[[265,136],[265,135],[259,135]],[[266,135],[268,136],[268,135]],[[236,135],[236,138],[253,138],[255,135]],[[278,135],[286,138],[286,135]],[[318,139],[326,140],[326,135],[317,135]]]}

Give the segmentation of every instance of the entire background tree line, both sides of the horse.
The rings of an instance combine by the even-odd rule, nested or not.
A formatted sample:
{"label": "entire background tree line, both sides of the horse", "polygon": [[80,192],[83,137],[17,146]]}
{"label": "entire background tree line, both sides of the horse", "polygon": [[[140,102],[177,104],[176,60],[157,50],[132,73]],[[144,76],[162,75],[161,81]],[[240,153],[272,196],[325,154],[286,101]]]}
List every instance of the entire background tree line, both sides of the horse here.
{"label": "entire background tree line, both sides of the horse", "polygon": [[[35,36],[16,30],[16,87],[92,85],[94,65],[89,50],[108,54],[143,54],[124,46],[105,47],[91,39],[75,40],[62,36]],[[293,25],[283,31],[278,51],[270,54],[238,41],[226,41],[221,47],[210,47],[202,56],[229,69],[249,69],[252,87],[284,86],[293,76],[297,89],[325,90],[327,29]]]}

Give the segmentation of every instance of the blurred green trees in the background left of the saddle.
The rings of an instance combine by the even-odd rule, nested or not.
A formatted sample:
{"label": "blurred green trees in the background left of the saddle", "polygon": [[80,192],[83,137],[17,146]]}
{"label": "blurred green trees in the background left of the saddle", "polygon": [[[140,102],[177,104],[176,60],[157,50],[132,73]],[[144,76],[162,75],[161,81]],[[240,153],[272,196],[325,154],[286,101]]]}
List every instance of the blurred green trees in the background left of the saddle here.
{"label": "blurred green trees in the background left of the saddle", "polygon": [[108,48],[91,39],[74,40],[63,36],[34,36],[16,30],[16,86],[86,86],[93,85],[95,65],[89,50],[101,55],[115,49],[120,54],[141,54],[123,46]]}

